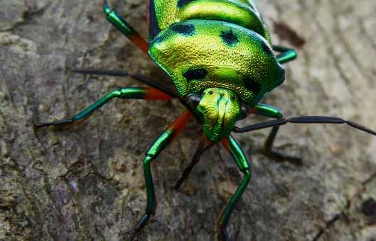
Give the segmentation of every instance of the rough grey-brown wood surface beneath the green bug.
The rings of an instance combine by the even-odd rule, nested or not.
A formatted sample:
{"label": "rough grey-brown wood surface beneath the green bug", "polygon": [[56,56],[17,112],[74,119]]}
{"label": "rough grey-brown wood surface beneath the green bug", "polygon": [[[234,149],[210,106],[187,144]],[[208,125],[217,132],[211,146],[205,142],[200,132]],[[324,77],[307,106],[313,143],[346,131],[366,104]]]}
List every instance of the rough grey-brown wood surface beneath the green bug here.
{"label": "rough grey-brown wood surface beneath the green bug", "polygon": [[[141,160],[181,112],[177,101],[115,100],[80,126],[33,130],[117,86],[141,86],[71,74],[73,67],[125,69],[169,83],[105,21],[101,4],[0,0],[0,240],[122,240],[144,211]],[[145,1],[113,5],[147,36]],[[340,116],[376,129],[376,1],[259,6],[274,43],[299,47],[286,82],[264,102],[286,116]],[[217,214],[242,175],[215,147],[173,191],[198,131],[190,124],[154,162],[159,208],[139,240],[215,240]],[[375,240],[375,137],[342,125],[286,125],[276,145],[304,158],[296,167],[257,153],[267,133],[237,135],[253,176],[230,220],[233,240]]]}

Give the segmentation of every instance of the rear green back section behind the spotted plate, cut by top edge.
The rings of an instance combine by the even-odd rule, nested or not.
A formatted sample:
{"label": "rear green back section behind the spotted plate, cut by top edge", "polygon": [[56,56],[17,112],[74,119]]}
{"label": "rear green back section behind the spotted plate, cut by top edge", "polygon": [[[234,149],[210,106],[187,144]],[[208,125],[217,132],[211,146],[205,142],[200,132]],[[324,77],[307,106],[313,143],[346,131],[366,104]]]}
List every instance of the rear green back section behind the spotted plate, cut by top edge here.
{"label": "rear green back section behind the spotted plate, cut by top edge", "polygon": [[252,0],[154,0],[153,15],[160,30],[188,19],[235,23],[254,30],[271,44],[269,31]]}

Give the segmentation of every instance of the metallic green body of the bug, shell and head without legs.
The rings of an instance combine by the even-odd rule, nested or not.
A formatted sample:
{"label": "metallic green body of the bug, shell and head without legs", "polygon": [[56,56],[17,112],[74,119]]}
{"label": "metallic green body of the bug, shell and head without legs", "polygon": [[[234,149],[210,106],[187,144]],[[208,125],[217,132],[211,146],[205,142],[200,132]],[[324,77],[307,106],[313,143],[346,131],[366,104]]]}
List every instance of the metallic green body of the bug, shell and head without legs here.
{"label": "metallic green body of the bug, shell and head without legs", "polygon": [[252,1],[156,0],[153,11],[149,54],[181,96],[202,94],[197,111],[211,141],[230,135],[241,103],[255,106],[284,81]]}

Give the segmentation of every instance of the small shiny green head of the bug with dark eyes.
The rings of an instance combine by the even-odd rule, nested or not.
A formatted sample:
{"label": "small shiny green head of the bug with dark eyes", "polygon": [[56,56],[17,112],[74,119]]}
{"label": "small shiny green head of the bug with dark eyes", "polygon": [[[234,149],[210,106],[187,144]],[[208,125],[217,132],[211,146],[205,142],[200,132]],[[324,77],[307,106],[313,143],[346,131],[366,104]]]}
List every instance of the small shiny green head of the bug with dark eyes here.
{"label": "small shiny green head of the bug with dark eyes", "polygon": [[212,142],[230,135],[235,122],[242,116],[242,106],[237,95],[229,89],[209,88],[202,96],[188,96],[188,101],[203,121],[203,131]]}

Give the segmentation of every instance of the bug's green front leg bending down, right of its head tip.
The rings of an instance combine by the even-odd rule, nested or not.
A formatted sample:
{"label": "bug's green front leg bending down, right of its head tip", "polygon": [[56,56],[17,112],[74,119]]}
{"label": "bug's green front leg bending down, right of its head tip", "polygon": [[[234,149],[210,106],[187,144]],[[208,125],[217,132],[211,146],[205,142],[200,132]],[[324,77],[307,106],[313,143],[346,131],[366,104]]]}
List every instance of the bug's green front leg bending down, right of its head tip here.
{"label": "bug's green front leg bending down, right of its head tip", "polygon": [[235,191],[235,194],[232,195],[232,197],[230,198],[230,201],[227,203],[227,206],[225,206],[225,208],[222,209],[217,220],[217,232],[218,232],[219,239],[221,241],[230,241],[230,238],[227,235],[226,225],[228,223],[228,220],[230,219],[230,215],[232,211],[234,210],[237,202],[239,201],[240,197],[244,193],[249,183],[249,180],[251,179],[251,172],[250,172],[250,167],[249,167],[247,158],[245,157],[245,154],[242,151],[242,148],[237,143],[235,138],[233,138],[230,135],[228,138],[222,139],[221,142],[222,142],[222,145],[227,150],[227,152],[229,152],[230,155],[232,155],[232,158],[235,159],[237,167],[245,175],[242,180],[242,183]]}

